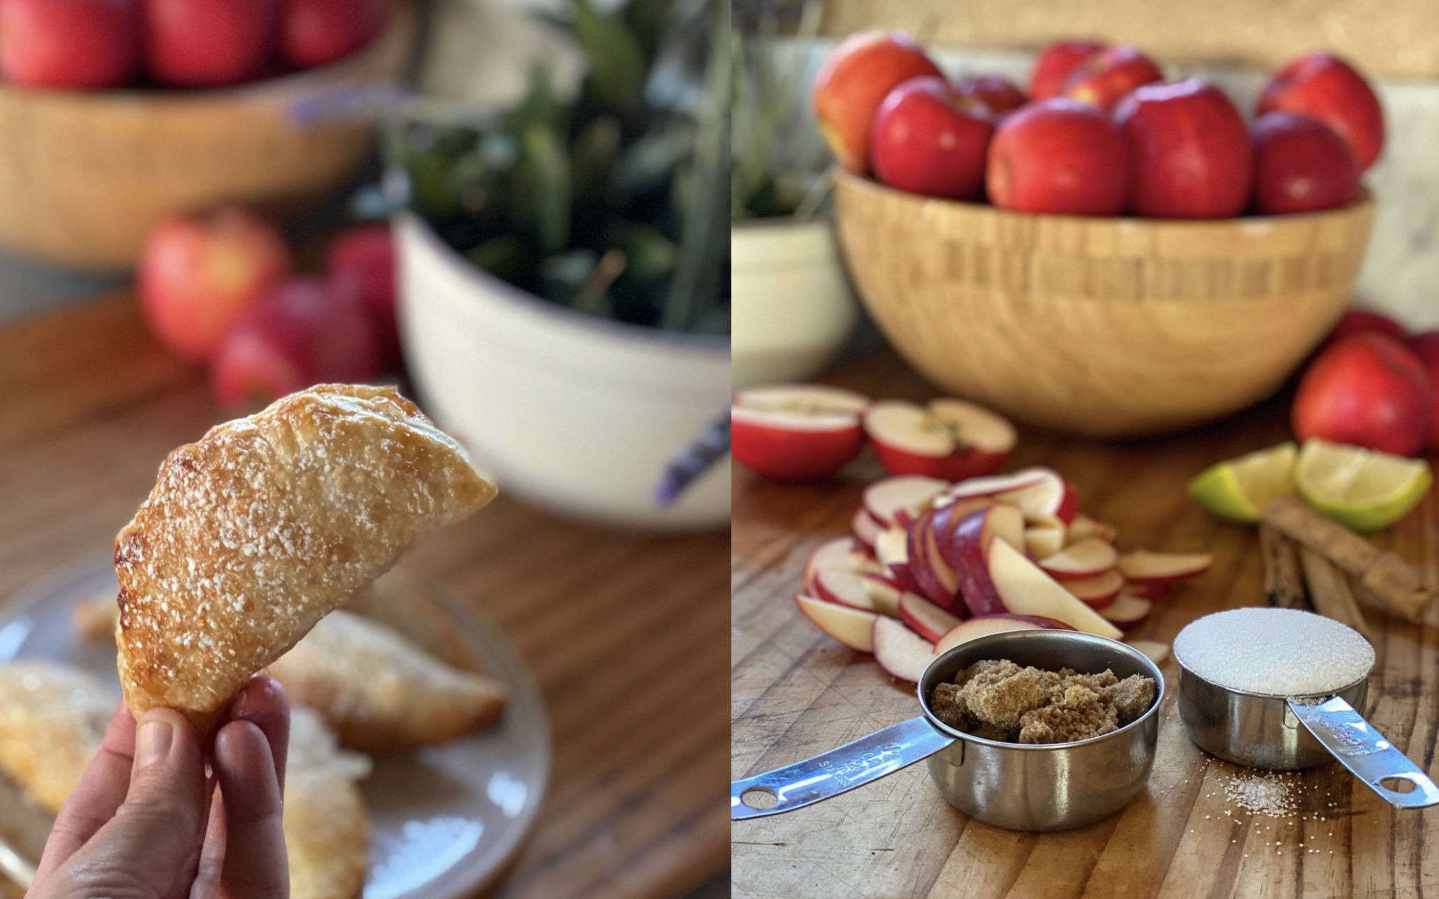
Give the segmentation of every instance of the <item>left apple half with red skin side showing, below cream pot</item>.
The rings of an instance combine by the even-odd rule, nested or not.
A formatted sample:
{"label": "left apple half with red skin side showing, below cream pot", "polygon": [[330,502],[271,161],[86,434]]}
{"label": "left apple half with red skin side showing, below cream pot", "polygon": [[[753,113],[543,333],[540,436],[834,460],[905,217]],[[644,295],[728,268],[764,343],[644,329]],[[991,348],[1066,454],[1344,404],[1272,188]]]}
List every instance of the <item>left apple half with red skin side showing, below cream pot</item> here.
{"label": "left apple half with red skin side showing, below cream pot", "polygon": [[817,384],[740,390],[730,401],[730,447],[770,480],[830,478],[865,446],[869,397]]}

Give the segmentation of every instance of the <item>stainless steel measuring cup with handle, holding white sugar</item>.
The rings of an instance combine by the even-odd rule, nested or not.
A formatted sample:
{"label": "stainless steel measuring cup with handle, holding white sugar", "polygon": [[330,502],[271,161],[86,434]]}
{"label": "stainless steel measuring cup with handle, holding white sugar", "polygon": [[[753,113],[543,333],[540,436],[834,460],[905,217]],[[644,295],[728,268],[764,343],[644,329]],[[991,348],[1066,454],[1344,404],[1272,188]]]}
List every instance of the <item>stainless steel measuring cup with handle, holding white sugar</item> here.
{"label": "stainless steel measuring cup with handle, holding white sugar", "polygon": [[1297,770],[1338,759],[1399,808],[1439,804],[1439,787],[1354,711],[1367,690],[1364,672],[1330,693],[1250,693],[1200,677],[1180,662],[1179,716],[1200,749],[1225,761]]}

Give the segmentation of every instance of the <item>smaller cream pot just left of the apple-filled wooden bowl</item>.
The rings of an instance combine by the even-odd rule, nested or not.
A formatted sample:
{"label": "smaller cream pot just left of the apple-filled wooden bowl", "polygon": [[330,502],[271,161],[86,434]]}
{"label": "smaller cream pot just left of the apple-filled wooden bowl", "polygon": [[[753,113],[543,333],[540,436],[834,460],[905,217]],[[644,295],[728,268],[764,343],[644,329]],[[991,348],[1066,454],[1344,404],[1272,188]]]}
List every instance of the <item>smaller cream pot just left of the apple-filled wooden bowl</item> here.
{"label": "smaller cream pot just left of the apple-filled wooden bowl", "polygon": [[859,306],[827,220],[730,229],[734,387],[803,381],[845,348]]}

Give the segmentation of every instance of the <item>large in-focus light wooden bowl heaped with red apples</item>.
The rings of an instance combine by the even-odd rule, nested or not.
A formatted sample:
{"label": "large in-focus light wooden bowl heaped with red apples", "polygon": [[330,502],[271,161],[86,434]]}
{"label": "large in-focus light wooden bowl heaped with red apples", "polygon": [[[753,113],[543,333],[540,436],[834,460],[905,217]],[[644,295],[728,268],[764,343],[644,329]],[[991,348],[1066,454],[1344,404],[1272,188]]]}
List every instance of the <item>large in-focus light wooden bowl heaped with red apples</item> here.
{"label": "large in-focus light wooden bowl heaped with red apples", "polygon": [[1191,427],[1275,390],[1350,302],[1374,201],[1207,222],[1016,213],[842,174],[871,316],[945,391],[1078,434]]}

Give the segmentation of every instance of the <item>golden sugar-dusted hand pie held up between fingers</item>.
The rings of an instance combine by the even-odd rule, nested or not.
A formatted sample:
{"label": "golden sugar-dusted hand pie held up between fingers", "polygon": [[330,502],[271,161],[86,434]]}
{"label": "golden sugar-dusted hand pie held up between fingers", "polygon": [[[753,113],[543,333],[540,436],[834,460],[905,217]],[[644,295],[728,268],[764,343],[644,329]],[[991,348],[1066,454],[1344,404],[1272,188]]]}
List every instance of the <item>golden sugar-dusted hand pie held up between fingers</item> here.
{"label": "golden sugar-dusted hand pie held up between fingers", "polygon": [[210,429],[115,539],[125,702],[177,709],[203,738],[412,539],[494,496],[393,387],[312,387]]}

